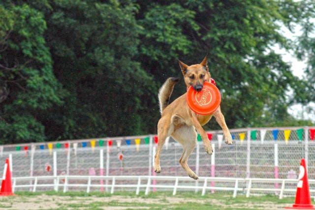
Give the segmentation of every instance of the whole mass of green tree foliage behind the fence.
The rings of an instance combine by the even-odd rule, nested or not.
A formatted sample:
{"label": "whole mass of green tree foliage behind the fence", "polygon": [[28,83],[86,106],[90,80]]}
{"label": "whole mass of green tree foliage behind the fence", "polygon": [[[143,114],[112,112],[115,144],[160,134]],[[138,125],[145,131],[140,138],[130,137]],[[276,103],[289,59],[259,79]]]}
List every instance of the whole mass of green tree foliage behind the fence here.
{"label": "whole mass of green tree foliage behind the fence", "polygon": [[[155,133],[158,87],[182,77],[178,59],[194,64],[205,54],[229,127],[300,125],[287,107],[305,101],[310,87],[272,46],[293,49],[280,28],[310,26],[312,3],[4,0],[0,140]],[[302,57],[309,49],[299,47]],[[177,85],[172,98],[184,92]]]}

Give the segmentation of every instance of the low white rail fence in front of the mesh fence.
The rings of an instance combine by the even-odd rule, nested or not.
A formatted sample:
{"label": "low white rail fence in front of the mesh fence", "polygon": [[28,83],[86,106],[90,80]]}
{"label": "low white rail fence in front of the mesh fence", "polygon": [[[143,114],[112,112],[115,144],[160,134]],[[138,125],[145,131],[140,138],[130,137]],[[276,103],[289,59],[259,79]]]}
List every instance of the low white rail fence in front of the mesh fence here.
{"label": "low white rail fence in front of the mesh fence", "polygon": [[[42,190],[63,190],[67,191],[105,191],[114,193],[115,191],[135,191],[138,195],[144,191],[147,195],[150,191],[173,190],[176,195],[178,190],[189,190],[205,195],[206,192],[231,191],[233,197],[238,193],[249,197],[252,194],[266,194],[270,192],[279,193],[279,198],[292,196],[296,192],[295,179],[257,179],[257,178],[213,178],[199,177],[199,180],[192,180],[189,177],[172,176],[42,176],[42,177],[16,177],[12,178],[13,191],[29,188],[29,191],[36,192]],[[273,187],[280,183],[280,188]],[[271,184],[271,185],[270,185]],[[315,185],[315,180],[309,180],[310,186]],[[255,185],[259,187],[255,187]],[[315,190],[310,190],[315,194]]]}

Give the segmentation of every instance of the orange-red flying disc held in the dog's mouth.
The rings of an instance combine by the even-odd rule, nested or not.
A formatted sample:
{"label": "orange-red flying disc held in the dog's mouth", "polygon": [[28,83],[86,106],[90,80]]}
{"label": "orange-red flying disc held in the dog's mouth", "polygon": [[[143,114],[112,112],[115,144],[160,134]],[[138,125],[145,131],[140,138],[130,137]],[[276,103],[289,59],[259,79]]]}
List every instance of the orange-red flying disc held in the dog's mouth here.
{"label": "orange-red flying disc held in the dog's mouth", "polygon": [[186,101],[189,108],[200,115],[210,115],[214,113],[221,103],[220,90],[212,83],[204,82],[201,91],[197,92],[189,87]]}

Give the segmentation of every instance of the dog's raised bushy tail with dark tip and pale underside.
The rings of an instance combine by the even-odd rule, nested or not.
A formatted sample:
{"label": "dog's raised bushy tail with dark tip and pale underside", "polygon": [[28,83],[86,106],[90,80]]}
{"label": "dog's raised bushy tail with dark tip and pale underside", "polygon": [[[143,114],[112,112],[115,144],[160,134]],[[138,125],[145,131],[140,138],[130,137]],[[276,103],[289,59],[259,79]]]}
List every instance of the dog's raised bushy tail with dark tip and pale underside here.
{"label": "dog's raised bushy tail with dark tip and pale underside", "polygon": [[169,98],[174,89],[174,85],[179,81],[179,78],[170,77],[168,78],[162,87],[158,91],[158,102],[159,102],[159,110],[162,114],[162,111],[167,107]]}

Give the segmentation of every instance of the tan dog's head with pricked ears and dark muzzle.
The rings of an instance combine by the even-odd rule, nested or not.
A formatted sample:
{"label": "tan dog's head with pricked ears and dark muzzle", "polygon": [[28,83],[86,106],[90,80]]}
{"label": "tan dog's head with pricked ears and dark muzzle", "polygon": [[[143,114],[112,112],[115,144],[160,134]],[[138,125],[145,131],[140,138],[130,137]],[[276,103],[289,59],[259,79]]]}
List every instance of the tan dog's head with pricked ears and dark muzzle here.
{"label": "tan dog's head with pricked ears and dark muzzle", "polygon": [[186,65],[179,61],[179,65],[184,75],[185,84],[187,87],[192,86],[197,92],[202,90],[203,83],[210,81],[211,74],[208,68],[208,55],[201,61],[200,64]]}

